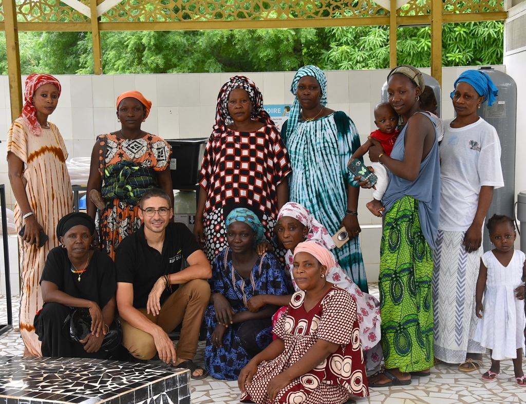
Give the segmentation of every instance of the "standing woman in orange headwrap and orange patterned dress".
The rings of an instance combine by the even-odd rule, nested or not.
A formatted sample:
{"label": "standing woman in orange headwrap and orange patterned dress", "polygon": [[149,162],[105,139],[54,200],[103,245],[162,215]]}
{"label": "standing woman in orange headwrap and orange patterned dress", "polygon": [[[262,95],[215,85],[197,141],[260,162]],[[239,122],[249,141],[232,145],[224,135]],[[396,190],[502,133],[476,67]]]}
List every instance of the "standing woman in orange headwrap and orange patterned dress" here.
{"label": "standing woman in orange headwrap and orange patterned dress", "polygon": [[93,218],[100,209],[100,242],[113,259],[119,243],[141,225],[137,212],[147,189],[163,189],[174,203],[170,146],[140,128],[150,108],[139,91],[123,92],[117,98],[120,130],[100,135],[92,151],[86,208]]}

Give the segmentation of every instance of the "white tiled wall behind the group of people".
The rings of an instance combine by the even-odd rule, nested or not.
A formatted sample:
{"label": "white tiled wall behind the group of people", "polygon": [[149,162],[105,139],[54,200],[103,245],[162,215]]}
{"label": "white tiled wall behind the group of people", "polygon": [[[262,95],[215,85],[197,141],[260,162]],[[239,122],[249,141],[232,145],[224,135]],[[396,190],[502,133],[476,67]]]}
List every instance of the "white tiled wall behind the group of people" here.
{"label": "white tiled wall behind the group of people", "polygon": [[[472,67],[476,68],[476,67]],[[495,66],[504,71],[504,66]],[[442,69],[442,117],[452,118],[449,92],[453,81],[465,67]],[[430,74],[430,69],[422,69]],[[328,71],[328,107],[348,113],[364,142],[375,130],[373,108],[380,102],[381,88],[389,70]],[[57,76],[62,84],[58,107],[50,117],[62,133],[69,158],[88,157],[98,134],[118,129],[115,101],[128,90],[138,90],[152,101],[143,129],[165,139],[208,138],[215,119],[219,89],[235,73]],[[290,83],[294,72],[245,73],[263,92],[265,103],[292,103]],[[24,82],[25,77],[22,78]],[[5,117],[5,119],[4,119]],[[11,122],[9,84],[0,76],[0,155],[6,156],[6,133]],[[520,153],[518,153],[518,156]],[[7,164],[0,159],[0,183],[9,184]],[[8,187],[7,205],[15,199]],[[358,207],[363,258],[368,278],[378,278],[381,219],[373,216],[365,204],[371,191],[361,190]]]}

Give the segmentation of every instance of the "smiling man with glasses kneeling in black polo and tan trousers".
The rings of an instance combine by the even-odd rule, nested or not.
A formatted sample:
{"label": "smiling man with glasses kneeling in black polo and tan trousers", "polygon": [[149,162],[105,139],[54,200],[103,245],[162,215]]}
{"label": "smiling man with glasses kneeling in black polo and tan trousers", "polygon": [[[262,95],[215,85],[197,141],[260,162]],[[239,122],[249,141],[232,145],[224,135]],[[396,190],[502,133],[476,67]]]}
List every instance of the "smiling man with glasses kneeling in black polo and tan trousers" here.
{"label": "smiling man with glasses kneeling in black polo and tan trousers", "polygon": [[[140,200],[141,228],[118,246],[117,308],[123,345],[138,359],[159,358],[190,369],[191,377],[206,376],[197,367],[199,329],[210,302],[210,264],[195,237],[182,223],[170,223],[170,198],[151,189]],[[186,259],[187,268],[181,269]],[[177,344],[168,337],[180,323]]]}

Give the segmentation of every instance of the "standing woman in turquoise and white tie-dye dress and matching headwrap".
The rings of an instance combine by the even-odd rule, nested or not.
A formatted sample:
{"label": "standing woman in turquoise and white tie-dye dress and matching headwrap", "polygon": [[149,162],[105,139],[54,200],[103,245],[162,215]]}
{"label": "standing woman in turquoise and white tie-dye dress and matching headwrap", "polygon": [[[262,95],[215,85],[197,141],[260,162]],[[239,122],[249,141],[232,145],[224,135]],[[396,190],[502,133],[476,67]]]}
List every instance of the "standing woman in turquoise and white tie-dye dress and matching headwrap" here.
{"label": "standing woman in turquoise and white tie-dye dress and matching headwrap", "polygon": [[327,78],[318,67],[300,68],[290,91],[296,99],[281,128],[292,164],[289,200],[304,205],[331,235],[345,226],[351,240],[334,253],[362,292],[368,292],[358,241],[360,189],[347,170],[360,147],[358,131],[345,112],[327,108]]}

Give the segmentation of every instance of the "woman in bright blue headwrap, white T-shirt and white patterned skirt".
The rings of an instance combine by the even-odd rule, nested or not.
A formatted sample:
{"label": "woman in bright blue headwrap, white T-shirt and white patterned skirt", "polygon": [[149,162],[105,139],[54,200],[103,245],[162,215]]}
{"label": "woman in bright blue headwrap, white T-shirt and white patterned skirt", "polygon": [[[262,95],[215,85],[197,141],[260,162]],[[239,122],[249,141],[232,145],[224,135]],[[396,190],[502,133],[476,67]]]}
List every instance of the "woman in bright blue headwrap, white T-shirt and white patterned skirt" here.
{"label": "woman in bright blue headwrap, white T-shirt and white patterned skirt", "polygon": [[440,221],[434,254],[434,356],[473,371],[485,348],[477,328],[475,286],[482,256],[482,226],[493,189],[504,186],[497,131],[478,116],[499,94],[480,70],[464,71],[451,92],[457,117],[444,121],[440,144]]}

